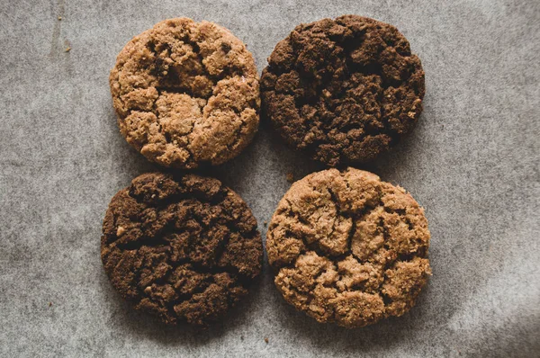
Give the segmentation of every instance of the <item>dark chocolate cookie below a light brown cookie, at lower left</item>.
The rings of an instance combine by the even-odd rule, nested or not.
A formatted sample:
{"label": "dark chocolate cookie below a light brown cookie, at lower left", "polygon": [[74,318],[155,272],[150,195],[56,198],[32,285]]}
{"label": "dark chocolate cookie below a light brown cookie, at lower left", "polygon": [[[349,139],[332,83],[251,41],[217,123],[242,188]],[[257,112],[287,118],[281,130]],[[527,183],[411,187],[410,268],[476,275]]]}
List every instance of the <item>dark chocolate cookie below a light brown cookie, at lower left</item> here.
{"label": "dark chocolate cookie below a light brown cookie, at lower left", "polygon": [[219,320],[246,296],[262,252],[246,202],[208,177],[140,175],[114,195],[103,220],[112,286],[168,324]]}

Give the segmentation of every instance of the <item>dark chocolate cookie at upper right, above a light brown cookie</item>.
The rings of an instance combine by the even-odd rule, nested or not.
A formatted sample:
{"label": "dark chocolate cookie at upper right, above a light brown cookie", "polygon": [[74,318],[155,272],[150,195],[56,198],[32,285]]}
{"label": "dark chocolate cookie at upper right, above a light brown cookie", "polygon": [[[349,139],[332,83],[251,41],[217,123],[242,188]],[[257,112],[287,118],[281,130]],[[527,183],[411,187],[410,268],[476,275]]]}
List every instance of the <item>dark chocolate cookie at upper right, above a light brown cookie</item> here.
{"label": "dark chocolate cookie at upper right, above a light brown cookie", "polygon": [[424,93],[407,39],[356,15],[297,26],[261,76],[275,130],[329,166],[366,163],[395,146],[419,119]]}

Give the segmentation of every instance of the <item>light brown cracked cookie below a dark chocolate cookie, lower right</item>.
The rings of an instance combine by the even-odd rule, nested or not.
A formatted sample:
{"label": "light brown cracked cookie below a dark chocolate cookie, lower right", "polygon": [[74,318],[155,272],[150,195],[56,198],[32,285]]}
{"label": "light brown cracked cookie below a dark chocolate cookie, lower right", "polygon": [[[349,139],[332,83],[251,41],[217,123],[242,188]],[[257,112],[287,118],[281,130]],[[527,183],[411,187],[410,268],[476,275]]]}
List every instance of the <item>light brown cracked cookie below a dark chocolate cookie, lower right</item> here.
{"label": "light brown cracked cookie below a dark chocolate cookie, lower right", "polygon": [[426,284],[428,220],[399,186],[348,168],[293,183],[266,236],[275,285],[319,322],[363,327],[407,312]]}

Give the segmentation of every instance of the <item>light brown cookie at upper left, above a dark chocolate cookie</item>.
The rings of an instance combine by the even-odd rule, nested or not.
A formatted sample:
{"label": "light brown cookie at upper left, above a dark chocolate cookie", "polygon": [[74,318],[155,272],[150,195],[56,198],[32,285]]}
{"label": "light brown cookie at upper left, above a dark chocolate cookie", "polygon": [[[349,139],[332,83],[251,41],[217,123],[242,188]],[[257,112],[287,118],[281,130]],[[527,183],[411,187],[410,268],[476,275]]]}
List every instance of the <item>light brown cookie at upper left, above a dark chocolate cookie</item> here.
{"label": "light brown cookie at upper left, above a dark chocolate cookie", "polygon": [[254,58],[212,22],[158,22],[121,50],[110,85],[122,136],[161,166],[220,165],[257,132]]}

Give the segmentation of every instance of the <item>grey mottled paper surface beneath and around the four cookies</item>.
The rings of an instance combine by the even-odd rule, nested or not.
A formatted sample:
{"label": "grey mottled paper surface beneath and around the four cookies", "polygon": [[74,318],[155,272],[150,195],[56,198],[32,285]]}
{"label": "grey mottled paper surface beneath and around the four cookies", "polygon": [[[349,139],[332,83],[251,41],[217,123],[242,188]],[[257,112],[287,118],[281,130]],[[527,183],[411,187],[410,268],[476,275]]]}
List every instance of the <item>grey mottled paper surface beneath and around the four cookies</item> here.
{"label": "grey mottled paper surface beneath and around the four cookies", "polygon": [[[155,22],[188,16],[228,27],[262,70],[296,24],[344,13],[396,25],[427,74],[417,129],[371,167],[427,210],[433,277],[417,307],[356,330],[319,325],[284,303],[266,265],[208,331],[133,312],[103,273],[101,223],[112,195],[154,167],[117,130],[116,54]],[[539,36],[536,0],[3,0],[0,355],[538,356]],[[262,128],[212,175],[265,234],[285,174],[318,169]]]}

